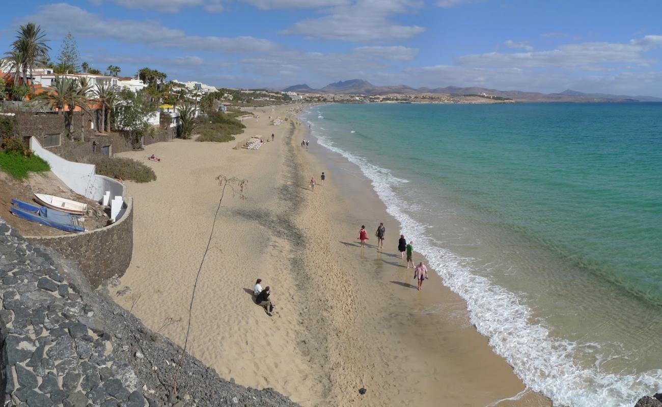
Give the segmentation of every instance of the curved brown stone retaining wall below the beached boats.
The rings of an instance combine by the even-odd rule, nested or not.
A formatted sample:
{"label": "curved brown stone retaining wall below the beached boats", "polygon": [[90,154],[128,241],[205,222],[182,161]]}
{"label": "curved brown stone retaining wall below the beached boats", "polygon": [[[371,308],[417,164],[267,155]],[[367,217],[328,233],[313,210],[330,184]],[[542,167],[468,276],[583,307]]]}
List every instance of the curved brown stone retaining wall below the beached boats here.
{"label": "curved brown stone retaining wall below the beached boats", "polygon": [[110,226],[64,236],[26,236],[30,242],[54,249],[79,265],[93,287],[115,275],[122,277],[133,253],[133,199],[124,215]]}

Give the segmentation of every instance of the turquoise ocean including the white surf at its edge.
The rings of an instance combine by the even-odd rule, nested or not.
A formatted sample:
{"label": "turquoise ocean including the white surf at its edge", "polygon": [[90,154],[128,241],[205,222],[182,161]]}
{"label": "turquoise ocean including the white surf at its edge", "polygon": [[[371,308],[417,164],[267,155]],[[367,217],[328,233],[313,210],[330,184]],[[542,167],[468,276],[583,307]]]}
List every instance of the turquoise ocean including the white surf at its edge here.
{"label": "turquoise ocean including the white surf at its edge", "polygon": [[[301,115],[531,390],[662,390],[662,104],[321,105]],[[332,175],[330,175],[332,177]]]}

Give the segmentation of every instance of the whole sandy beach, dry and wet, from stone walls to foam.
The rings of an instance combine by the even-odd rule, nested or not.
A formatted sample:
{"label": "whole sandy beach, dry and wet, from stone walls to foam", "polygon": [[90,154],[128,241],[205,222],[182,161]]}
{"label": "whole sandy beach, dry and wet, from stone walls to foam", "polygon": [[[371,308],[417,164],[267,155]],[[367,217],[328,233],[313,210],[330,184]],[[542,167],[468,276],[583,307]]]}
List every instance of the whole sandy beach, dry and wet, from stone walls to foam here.
{"label": "whole sandy beach, dry and wet, from stone walls to foam", "polygon": [[[112,289],[117,302],[183,345],[221,193],[216,177],[246,179],[244,199],[226,189],[193,302],[189,349],[221,377],[275,388],[303,406],[547,404],[525,391],[433,270],[416,291],[396,250],[398,225],[372,191],[332,175],[310,191],[310,177],[319,182],[328,169],[299,146],[306,133],[291,106],[274,109],[257,109],[260,119],[246,120],[237,137],[275,134],[256,151],[173,140],[118,154],[150,165],[158,179],[126,182],[134,251]],[[273,126],[269,115],[289,120]],[[384,253],[375,249],[379,222]],[[271,287],[273,316],[252,299],[257,278]]]}

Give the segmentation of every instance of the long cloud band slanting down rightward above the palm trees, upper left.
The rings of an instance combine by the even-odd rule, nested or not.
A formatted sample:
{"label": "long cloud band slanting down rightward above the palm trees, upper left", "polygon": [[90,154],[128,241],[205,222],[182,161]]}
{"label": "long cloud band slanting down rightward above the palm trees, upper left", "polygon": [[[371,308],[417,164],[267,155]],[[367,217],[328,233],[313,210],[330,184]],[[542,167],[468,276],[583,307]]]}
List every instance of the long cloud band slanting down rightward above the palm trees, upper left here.
{"label": "long cloud band slanting down rightward above the palm trees, upper left", "polygon": [[156,48],[236,54],[267,52],[279,48],[275,42],[250,36],[190,36],[182,30],[167,28],[156,21],[105,19],[66,3],[42,6],[36,14],[23,20],[41,24],[49,32],[64,34],[71,31],[75,36],[118,40],[127,44],[149,44]]}

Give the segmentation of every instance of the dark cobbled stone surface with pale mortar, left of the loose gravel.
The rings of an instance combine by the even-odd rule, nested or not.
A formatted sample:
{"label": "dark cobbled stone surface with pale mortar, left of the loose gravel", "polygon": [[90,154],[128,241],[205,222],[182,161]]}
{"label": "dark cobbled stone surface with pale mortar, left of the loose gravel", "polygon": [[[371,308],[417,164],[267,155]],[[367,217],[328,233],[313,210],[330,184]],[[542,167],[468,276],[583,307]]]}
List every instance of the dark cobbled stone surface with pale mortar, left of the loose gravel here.
{"label": "dark cobbled stone surface with pale mortar, left of the loose gravel", "polygon": [[[50,252],[52,253],[52,252]],[[146,407],[63,263],[0,219],[0,405]]]}

